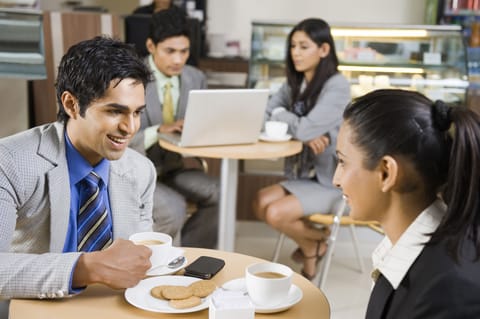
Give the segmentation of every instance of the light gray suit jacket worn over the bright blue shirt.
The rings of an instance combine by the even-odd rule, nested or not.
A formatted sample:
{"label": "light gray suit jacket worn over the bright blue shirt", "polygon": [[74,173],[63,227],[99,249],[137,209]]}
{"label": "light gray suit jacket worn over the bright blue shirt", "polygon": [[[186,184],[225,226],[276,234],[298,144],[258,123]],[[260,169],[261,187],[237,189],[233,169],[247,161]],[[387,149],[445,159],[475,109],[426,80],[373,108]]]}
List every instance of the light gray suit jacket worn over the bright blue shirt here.
{"label": "light gray suit jacket worn over the bright blue shirt", "polygon": [[[110,164],[113,237],[152,229],[156,174],[127,149]],[[64,125],[0,139],[0,299],[69,294],[79,253],[62,253],[70,211]]]}

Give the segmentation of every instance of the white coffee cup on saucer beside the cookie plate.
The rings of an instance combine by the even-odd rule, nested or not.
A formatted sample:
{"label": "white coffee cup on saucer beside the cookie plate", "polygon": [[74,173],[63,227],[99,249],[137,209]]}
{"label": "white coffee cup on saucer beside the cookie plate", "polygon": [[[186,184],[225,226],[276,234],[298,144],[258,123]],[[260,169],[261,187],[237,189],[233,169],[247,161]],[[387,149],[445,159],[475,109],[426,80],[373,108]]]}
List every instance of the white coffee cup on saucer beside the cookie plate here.
{"label": "white coffee cup on saucer beside the cookie plate", "polygon": [[245,284],[250,299],[259,306],[275,306],[288,298],[293,271],[290,267],[262,262],[247,266]]}

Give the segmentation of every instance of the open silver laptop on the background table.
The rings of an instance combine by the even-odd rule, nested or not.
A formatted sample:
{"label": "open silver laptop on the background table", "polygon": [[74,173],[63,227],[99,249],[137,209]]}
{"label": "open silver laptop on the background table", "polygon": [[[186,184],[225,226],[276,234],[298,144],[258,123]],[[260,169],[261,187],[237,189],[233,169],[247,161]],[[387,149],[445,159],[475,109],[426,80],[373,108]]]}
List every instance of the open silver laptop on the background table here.
{"label": "open silver laptop on the background table", "polygon": [[192,90],[181,134],[159,137],[181,146],[249,144],[258,141],[269,90]]}

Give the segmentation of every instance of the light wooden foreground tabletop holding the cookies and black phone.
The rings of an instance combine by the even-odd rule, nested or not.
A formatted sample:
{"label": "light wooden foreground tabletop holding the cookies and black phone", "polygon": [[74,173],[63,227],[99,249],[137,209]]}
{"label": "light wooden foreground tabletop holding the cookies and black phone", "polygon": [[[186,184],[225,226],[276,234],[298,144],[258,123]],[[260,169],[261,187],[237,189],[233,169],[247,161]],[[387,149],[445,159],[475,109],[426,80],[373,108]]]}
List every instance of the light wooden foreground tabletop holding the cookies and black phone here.
{"label": "light wooden foreground tabletop holding the cookies and black phone", "polygon": [[[212,279],[218,286],[244,276],[249,264],[264,261],[247,255],[210,249],[185,248],[185,255],[191,262],[198,256],[212,256],[225,260],[225,267]],[[330,318],[330,306],[325,295],[310,281],[299,274],[293,276],[293,283],[303,291],[302,300],[292,308],[275,314],[255,314],[261,318]],[[185,314],[163,314],[138,309],[124,298],[123,290],[112,290],[102,285],[92,285],[73,298],[57,300],[21,300],[10,303],[10,319],[141,319],[141,318],[208,318],[208,309]]]}

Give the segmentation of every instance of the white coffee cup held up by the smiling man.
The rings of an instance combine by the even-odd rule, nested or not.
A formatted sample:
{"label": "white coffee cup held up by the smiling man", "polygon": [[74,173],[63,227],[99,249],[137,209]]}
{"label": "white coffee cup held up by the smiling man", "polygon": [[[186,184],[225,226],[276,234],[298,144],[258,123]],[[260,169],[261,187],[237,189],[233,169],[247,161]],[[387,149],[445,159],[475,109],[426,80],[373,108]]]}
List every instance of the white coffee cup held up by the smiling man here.
{"label": "white coffee cup held up by the smiling man", "polygon": [[172,247],[172,236],[158,232],[135,233],[128,238],[137,245],[145,245],[152,250],[150,262],[152,268],[164,261],[164,256]]}

